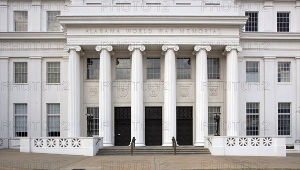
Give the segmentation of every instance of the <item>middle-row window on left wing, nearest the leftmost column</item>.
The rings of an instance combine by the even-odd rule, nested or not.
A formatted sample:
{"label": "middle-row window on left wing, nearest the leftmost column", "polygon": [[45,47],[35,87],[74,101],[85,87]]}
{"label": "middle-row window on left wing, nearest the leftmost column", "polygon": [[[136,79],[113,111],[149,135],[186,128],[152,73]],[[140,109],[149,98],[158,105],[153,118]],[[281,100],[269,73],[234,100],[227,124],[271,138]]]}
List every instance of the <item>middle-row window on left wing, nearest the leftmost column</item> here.
{"label": "middle-row window on left wing, nearest the leftmost column", "polygon": [[60,82],[60,62],[47,62],[47,83]]}

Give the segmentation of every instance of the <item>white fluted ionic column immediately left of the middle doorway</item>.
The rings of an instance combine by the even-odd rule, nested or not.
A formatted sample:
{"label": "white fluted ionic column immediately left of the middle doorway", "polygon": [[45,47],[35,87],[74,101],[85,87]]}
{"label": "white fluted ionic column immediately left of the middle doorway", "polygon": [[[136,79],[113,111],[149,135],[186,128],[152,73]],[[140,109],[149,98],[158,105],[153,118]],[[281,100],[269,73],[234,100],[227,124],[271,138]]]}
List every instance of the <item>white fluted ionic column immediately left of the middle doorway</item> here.
{"label": "white fluted ionic column immediately left of the middle doorway", "polygon": [[143,90],[142,84],[142,55],[145,50],[143,45],[129,45],[131,52],[131,139],[135,137],[135,146],[145,146],[145,132],[143,124]]}

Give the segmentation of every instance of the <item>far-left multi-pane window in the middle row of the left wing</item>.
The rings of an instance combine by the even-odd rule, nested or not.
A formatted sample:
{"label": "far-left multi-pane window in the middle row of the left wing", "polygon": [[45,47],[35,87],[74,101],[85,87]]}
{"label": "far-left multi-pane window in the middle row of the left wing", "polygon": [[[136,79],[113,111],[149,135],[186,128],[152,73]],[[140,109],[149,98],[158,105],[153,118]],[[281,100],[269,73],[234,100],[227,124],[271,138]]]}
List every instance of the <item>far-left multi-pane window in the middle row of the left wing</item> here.
{"label": "far-left multi-pane window in the middle row of the left wing", "polygon": [[14,83],[27,83],[27,62],[14,62]]}

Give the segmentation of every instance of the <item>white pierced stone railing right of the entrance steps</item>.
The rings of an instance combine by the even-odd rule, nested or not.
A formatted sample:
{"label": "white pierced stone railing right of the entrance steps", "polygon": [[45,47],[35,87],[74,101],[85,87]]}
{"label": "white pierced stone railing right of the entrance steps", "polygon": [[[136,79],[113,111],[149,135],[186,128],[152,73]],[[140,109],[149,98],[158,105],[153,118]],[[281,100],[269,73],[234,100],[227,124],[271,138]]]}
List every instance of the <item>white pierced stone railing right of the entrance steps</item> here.
{"label": "white pierced stone railing right of the entrance steps", "polygon": [[280,136],[210,136],[204,147],[218,156],[286,156],[285,137]]}

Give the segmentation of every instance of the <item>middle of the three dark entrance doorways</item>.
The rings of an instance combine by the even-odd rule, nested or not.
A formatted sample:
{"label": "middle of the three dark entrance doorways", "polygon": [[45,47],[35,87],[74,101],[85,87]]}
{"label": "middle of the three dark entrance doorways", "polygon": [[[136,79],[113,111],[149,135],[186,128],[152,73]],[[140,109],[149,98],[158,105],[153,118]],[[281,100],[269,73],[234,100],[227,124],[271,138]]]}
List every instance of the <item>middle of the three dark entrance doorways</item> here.
{"label": "middle of the three dark entrance doorways", "polygon": [[162,145],[162,107],[145,107],[145,145]]}

